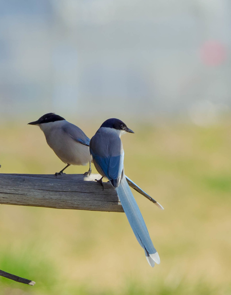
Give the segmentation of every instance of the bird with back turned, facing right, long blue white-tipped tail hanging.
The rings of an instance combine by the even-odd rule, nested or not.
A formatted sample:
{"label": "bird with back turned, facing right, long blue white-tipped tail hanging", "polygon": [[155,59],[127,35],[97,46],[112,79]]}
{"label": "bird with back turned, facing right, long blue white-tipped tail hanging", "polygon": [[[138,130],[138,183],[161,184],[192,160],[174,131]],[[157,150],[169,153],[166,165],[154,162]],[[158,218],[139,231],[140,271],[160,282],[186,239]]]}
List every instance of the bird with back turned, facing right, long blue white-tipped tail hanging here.
{"label": "bird with back turned, facing right, long blue white-tipped tail hanging", "polygon": [[[159,254],[154,248],[144,219],[132,195],[124,175],[124,150],[120,136],[125,133],[134,133],[119,119],[108,119],[100,126],[90,141],[90,153],[97,171],[106,176],[117,191],[124,212],[130,226],[144,249],[150,266],[159,264]],[[98,180],[102,184],[102,178]]]}

